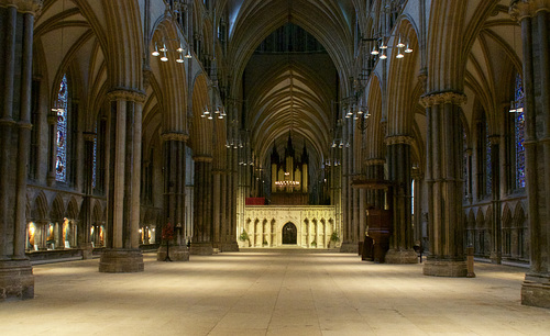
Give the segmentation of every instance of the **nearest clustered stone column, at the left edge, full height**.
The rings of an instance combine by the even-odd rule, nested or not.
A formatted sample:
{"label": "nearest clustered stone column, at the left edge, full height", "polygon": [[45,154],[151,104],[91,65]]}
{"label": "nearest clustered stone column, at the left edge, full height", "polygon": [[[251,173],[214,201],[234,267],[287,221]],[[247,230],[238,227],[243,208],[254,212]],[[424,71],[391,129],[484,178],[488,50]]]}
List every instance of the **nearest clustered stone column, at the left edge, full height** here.
{"label": "nearest clustered stone column, at the left edge, full height", "polygon": [[[0,0],[0,302],[34,298],[34,277],[25,256],[26,178],[31,142],[34,13],[37,1]],[[23,29],[18,34],[18,29]],[[15,85],[19,79],[19,85]],[[13,173],[16,171],[16,173]]]}

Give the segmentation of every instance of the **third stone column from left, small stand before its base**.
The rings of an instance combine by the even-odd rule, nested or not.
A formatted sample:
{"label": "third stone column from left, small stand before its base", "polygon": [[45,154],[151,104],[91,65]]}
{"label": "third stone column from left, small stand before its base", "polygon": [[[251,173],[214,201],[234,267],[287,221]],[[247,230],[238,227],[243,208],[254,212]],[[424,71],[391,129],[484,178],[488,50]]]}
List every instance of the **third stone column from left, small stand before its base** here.
{"label": "third stone column from left, small stand before its base", "polygon": [[[164,223],[170,223],[177,235],[184,234],[185,223],[185,176],[186,176],[186,142],[187,135],[168,132],[162,135],[164,146]],[[162,229],[162,228],[158,228]],[[179,231],[179,232],[177,232]],[[166,245],[157,251],[157,260],[166,259]],[[173,261],[188,261],[189,250],[182,244],[182,237],[169,242],[169,257]]]}

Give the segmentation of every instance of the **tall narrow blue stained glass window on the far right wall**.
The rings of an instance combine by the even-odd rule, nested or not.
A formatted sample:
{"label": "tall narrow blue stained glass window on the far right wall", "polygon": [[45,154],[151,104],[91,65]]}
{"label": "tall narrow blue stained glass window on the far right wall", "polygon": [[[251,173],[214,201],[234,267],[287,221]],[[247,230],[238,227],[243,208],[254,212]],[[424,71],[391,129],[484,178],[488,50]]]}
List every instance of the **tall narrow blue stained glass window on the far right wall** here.
{"label": "tall narrow blue stained glass window on the far right wall", "polygon": [[516,111],[514,117],[515,152],[516,152],[516,188],[525,188],[525,115],[524,115],[524,85],[521,76],[516,76],[515,89]]}

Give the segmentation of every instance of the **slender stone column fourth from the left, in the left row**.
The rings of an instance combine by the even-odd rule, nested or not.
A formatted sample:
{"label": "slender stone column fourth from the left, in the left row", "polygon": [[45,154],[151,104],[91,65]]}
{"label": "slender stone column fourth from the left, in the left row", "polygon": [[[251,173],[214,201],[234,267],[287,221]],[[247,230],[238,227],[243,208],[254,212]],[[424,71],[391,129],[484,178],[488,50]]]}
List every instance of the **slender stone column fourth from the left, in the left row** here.
{"label": "slender stone column fourth from the left, in the left row", "polygon": [[189,253],[212,255],[212,157],[194,156],[194,235]]}

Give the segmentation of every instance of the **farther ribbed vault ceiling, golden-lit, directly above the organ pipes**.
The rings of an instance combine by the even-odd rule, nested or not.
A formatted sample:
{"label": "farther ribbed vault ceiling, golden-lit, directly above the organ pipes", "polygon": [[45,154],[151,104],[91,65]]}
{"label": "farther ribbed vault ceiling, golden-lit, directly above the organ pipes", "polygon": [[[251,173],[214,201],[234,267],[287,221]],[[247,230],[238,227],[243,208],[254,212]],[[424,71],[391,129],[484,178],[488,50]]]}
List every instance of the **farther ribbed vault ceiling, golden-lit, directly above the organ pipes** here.
{"label": "farther ribbed vault ceiling, golden-lit, directly above the organ pipes", "polygon": [[316,157],[322,157],[330,142],[330,90],[314,74],[296,65],[282,66],[250,92],[248,126],[254,148],[262,157],[273,143],[286,143],[292,131],[302,137]]}

